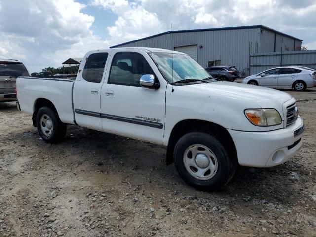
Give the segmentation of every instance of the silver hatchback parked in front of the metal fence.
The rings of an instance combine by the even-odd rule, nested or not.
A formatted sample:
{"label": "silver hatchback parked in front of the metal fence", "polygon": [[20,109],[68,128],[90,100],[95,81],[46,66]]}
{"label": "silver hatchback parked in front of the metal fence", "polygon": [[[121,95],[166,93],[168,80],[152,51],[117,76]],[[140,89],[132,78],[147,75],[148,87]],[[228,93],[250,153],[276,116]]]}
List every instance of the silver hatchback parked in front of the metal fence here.
{"label": "silver hatchback parked in front of the metal fence", "polygon": [[242,83],[303,91],[316,85],[316,72],[303,67],[277,67],[246,77]]}

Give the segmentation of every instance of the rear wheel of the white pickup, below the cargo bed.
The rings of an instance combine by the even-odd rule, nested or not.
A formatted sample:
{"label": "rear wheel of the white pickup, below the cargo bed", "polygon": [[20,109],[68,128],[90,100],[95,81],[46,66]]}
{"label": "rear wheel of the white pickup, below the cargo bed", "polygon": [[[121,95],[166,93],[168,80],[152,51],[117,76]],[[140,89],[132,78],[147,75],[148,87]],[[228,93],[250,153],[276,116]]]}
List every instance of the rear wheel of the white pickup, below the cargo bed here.
{"label": "rear wheel of the white pickup, below the cargo bed", "polygon": [[[46,124],[45,122],[43,122],[43,120],[41,121],[41,119],[43,120],[47,119]],[[49,121],[49,124],[47,121]],[[59,143],[66,136],[67,125],[63,123],[62,121],[60,121],[57,113],[49,107],[44,106],[39,109],[36,116],[36,125],[37,125],[38,132],[40,134],[40,137],[47,143],[52,143],[52,144]],[[49,127],[51,127],[50,132],[45,133],[42,130],[42,128],[48,129]]]}

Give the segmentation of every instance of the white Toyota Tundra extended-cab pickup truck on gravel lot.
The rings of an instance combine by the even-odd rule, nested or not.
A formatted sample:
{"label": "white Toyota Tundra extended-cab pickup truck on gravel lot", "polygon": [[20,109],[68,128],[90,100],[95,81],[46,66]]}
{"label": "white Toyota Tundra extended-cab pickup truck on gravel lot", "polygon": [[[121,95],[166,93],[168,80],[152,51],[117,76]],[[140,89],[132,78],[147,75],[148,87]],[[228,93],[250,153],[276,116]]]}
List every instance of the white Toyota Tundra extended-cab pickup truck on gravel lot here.
{"label": "white Toyota Tundra extended-cab pickup truck on gravel lot", "polygon": [[203,190],[227,184],[238,163],[276,166],[302,146],[291,95],[218,81],[188,55],[164,49],[91,51],[75,80],[19,77],[17,98],[48,143],[75,124],[164,145],[167,164]]}

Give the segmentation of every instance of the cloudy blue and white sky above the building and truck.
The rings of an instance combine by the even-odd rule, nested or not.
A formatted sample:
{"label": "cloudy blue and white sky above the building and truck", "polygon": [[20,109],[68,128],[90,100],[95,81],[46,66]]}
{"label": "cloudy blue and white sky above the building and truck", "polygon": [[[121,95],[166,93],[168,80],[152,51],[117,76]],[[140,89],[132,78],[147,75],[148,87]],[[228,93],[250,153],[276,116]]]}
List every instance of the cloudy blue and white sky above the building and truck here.
{"label": "cloudy blue and white sky above the building and truck", "polygon": [[316,0],[0,0],[0,58],[30,73],[174,30],[265,25],[316,49]]}

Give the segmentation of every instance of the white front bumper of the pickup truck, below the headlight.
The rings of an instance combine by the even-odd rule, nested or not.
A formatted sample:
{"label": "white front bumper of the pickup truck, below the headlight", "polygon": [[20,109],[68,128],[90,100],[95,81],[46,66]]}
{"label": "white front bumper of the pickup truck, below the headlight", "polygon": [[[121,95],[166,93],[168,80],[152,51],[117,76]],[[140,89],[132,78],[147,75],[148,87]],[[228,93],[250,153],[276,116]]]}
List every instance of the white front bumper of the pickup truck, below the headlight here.
{"label": "white front bumper of the pickup truck, below the headlight", "polygon": [[235,143],[238,162],[243,166],[272,167],[295,156],[302,147],[303,119],[290,126],[268,132],[243,132],[228,129]]}

